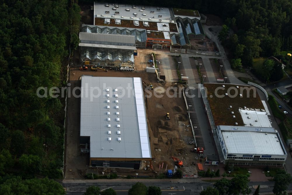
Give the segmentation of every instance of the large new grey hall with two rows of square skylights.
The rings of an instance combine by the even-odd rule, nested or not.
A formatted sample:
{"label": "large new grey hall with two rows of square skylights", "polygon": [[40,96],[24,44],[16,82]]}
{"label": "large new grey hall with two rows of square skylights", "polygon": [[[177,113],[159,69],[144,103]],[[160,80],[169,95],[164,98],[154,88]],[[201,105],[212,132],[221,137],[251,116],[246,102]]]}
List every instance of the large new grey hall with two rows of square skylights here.
{"label": "large new grey hall with two rows of square skylights", "polygon": [[141,78],[81,77],[80,144],[91,167],[140,169],[151,160]]}

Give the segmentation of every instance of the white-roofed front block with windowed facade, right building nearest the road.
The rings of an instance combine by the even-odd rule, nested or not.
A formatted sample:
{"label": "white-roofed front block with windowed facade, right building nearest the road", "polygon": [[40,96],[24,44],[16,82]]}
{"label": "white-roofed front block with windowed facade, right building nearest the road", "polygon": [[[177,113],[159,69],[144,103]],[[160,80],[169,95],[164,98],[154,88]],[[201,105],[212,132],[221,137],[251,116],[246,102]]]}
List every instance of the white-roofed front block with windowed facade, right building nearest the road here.
{"label": "white-roofed front block with windowed facade, right building nearest the road", "polygon": [[271,127],[216,127],[224,159],[239,165],[283,165],[287,153]]}

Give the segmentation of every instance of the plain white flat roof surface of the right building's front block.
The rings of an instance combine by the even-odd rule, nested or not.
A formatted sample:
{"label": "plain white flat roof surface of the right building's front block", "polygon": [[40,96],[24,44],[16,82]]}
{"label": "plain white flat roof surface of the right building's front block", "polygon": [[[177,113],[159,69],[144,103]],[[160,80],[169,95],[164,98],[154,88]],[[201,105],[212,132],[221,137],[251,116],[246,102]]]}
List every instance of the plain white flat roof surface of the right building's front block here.
{"label": "plain white flat roof surface of the right building's front block", "polygon": [[221,131],[230,154],[286,155],[277,133]]}

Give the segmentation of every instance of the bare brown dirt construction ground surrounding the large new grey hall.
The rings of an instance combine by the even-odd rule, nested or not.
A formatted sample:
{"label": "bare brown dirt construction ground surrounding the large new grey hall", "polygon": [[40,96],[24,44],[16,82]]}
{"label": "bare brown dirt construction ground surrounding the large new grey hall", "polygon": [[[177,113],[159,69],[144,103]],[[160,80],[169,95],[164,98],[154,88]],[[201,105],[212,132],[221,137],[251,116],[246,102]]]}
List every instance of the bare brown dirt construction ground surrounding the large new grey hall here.
{"label": "bare brown dirt construction ground surrounding the large new grey hall", "polygon": [[[116,171],[119,175],[140,175],[155,176],[159,173],[159,164],[163,169],[174,168],[174,161],[171,156],[175,156],[180,160],[183,160],[184,166],[181,167],[184,175],[195,175],[197,169],[195,165],[192,165],[197,154],[191,153],[190,149],[194,148],[194,144],[190,144],[192,141],[192,130],[187,120],[187,110],[185,102],[178,87],[182,85],[176,85],[172,82],[166,82],[165,85],[156,82],[154,73],[146,72],[120,72],[109,70],[104,71],[81,71],[78,67],[71,67],[70,69],[70,83],[71,86],[79,86],[79,78],[82,75],[91,76],[112,76],[112,77],[141,77],[142,82],[152,83],[154,89],[151,92],[155,92],[157,95],[163,97],[155,97],[157,95],[152,94],[152,97],[145,98],[145,106],[147,112],[147,123],[148,132],[151,144],[152,153],[152,166],[154,170],[147,167],[148,162],[142,163],[141,170],[132,169],[112,169],[112,168],[89,168],[88,156],[82,155],[79,148],[79,126],[80,126],[80,98],[75,98],[71,95],[68,99],[68,110],[67,110],[67,140],[66,140],[66,179],[80,178],[86,173],[98,172],[112,172]],[[175,87],[168,90],[169,87]],[[145,86],[144,86],[145,87]],[[71,93],[72,93],[71,88]],[[174,97],[168,97],[167,94]],[[175,98],[177,96],[177,98]],[[165,114],[170,113],[170,121],[166,121]],[[184,126],[183,126],[184,124]],[[160,173],[163,173],[162,171]]]}

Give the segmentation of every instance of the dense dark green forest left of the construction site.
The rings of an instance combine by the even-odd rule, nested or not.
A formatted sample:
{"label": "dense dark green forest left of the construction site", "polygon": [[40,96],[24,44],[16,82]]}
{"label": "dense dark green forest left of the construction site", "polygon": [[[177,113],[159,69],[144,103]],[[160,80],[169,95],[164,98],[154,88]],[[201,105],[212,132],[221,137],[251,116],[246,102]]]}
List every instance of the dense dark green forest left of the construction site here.
{"label": "dense dark green forest left of the construction site", "polygon": [[39,98],[36,90],[66,85],[79,12],[68,0],[1,0],[0,194],[18,194],[9,182],[29,194],[25,186],[37,185],[36,175],[62,178],[64,98]]}

